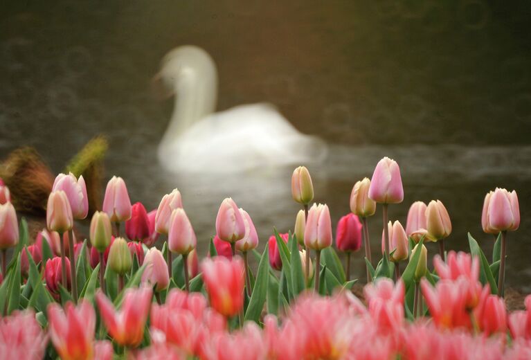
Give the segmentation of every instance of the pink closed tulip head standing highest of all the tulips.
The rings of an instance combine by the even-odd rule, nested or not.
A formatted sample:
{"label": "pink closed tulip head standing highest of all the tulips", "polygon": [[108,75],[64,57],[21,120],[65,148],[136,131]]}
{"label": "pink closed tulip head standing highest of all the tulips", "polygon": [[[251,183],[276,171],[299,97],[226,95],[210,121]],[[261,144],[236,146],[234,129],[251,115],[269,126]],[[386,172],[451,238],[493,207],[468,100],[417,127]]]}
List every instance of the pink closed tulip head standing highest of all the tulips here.
{"label": "pink closed tulip head standing highest of all the tulips", "polygon": [[381,204],[399,204],[404,200],[400,168],[387,156],[376,165],[369,187],[369,199]]}

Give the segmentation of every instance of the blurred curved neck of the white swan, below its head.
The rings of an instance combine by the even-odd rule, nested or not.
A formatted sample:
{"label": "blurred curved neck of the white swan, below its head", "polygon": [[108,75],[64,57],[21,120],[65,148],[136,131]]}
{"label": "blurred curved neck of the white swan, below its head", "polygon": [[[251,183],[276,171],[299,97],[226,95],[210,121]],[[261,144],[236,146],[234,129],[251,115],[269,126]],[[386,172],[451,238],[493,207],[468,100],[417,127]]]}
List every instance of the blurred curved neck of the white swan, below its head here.
{"label": "blurred curved neck of the white swan, below its head", "polygon": [[184,69],[175,82],[174,110],[161,147],[171,145],[194,123],[215,111],[217,74],[215,69],[209,70]]}

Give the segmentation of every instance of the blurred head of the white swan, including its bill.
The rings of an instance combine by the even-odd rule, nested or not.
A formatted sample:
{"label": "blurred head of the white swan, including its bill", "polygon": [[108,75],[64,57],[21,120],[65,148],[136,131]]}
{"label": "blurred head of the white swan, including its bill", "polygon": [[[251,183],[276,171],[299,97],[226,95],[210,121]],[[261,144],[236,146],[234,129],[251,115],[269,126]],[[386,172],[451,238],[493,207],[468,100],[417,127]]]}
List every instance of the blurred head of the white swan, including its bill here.
{"label": "blurred head of the white swan, including its bill", "polygon": [[161,60],[161,69],[154,77],[155,90],[168,97],[179,93],[181,89],[188,90],[190,84],[217,88],[216,66],[212,57],[202,48],[179,46]]}

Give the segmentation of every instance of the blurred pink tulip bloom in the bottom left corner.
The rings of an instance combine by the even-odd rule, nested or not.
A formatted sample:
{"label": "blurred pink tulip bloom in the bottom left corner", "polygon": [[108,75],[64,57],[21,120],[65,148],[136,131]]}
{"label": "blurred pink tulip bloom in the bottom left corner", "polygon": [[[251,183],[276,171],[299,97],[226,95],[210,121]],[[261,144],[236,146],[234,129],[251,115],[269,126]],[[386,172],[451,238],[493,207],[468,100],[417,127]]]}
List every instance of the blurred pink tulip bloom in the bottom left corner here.
{"label": "blurred pink tulip bloom in the bottom left corner", "polygon": [[13,312],[0,318],[1,359],[44,359],[48,336],[35,320],[33,310]]}

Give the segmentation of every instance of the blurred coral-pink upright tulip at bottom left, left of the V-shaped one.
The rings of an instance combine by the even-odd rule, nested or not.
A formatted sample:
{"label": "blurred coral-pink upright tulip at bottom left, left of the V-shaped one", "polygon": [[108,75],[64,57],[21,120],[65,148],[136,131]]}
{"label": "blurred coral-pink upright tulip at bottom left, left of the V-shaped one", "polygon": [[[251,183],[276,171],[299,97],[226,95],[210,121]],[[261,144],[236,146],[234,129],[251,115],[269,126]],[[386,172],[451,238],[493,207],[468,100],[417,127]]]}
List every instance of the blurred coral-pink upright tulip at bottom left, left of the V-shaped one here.
{"label": "blurred coral-pink upright tulip at bottom left, left of the V-shaped one", "polygon": [[66,303],[48,305],[49,331],[61,359],[93,359],[96,313],[91,303],[80,300],[77,307]]}

